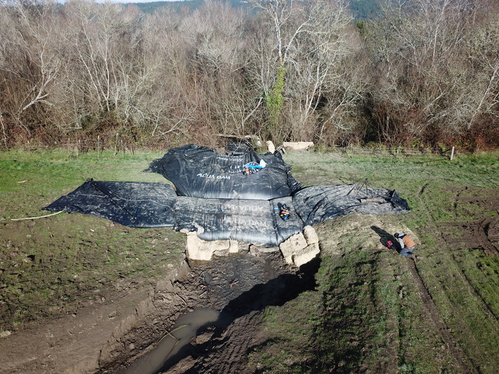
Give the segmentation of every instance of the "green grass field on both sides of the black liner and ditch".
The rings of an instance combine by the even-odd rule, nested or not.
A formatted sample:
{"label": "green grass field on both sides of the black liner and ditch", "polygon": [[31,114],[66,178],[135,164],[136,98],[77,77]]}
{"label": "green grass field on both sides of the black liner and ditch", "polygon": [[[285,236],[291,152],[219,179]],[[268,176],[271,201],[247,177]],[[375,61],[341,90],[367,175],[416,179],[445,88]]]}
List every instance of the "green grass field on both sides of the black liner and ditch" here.
{"label": "green grass field on both sides of the black liner and ditch", "polygon": [[[40,208],[87,178],[165,182],[142,173],[160,153],[0,153],[0,331],[153,283],[184,256],[184,235]],[[499,367],[499,155],[287,153],[304,186],[395,188],[412,212],[316,226],[315,291],[267,307],[248,356],[257,373],[496,373]],[[375,229],[376,228],[376,229]],[[378,231],[376,231],[378,230]],[[422,259],[386,249],[406,230]]]}

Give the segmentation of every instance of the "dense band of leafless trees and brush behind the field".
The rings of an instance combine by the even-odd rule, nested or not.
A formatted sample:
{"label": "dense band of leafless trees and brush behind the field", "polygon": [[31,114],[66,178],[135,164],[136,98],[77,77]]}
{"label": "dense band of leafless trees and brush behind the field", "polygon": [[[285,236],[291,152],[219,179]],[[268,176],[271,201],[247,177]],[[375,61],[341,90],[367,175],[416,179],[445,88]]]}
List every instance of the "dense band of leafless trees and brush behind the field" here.
{"label": "dense band of leafless trees and brush behind the field", "polygon": [[4,4],[4,147],[117,133],[142,145],[215,144],[217,134],[324,146],[499,142],[496,1],[207,1],[152,14]]}

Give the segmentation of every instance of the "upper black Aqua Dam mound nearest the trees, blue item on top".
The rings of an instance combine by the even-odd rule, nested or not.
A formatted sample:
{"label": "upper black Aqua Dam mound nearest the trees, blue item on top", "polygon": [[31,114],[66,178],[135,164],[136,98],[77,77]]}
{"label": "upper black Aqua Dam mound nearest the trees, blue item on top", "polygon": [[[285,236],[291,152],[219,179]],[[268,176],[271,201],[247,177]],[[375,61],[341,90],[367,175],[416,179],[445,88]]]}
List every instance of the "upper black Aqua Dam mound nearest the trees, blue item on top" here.
{"label": "upper black Aqua Dam mound nearest the trees, blue item on top", "polygon": [[170,149],[145,171],[172,181],[182,196],[270,200],[301,188],[290,170],[280,153],[220,155],[213,148],[189,144]]}

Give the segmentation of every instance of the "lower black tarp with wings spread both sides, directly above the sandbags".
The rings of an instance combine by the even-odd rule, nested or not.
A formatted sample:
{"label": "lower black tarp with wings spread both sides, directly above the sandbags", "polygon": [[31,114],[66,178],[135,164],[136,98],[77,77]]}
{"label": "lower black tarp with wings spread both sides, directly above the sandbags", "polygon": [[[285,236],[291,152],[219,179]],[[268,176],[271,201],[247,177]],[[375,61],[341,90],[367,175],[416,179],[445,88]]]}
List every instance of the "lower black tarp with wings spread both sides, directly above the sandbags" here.
{"label": "lower black tarp with wings spread both sides, directly above the sandbags", "polygon": [[[383,203],[361,202],[373,197]],[[287,221],[279,217],[283,204],[291,212]],[[353,185],[308,187],[293,197],[272,200],[238,200],[177,196],[171,186],[161,183],[101,181],[86,181],[43,209],[93,214],[130,227],[174,226],[196,231],[203,240],[238,240],[265,247],[277,246],[304,226],[336,216],[409,212],[395,191],[369,189],[366,193]]]}

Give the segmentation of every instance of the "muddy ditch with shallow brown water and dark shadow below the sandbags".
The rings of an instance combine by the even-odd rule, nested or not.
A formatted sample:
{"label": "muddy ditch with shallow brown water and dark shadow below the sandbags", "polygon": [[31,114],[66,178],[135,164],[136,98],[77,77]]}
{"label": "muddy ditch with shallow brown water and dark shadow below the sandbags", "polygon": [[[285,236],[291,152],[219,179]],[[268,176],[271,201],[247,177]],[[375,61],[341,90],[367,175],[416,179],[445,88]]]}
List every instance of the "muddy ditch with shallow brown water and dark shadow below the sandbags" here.
{"label": "muddy ditch with shallow brown water and dark shadow below the sandbags", "polygon": [[[205,361],[233,321],[267,305],[282,305],[313,289],[318,268],[317,261],[300,270],[292,268],[280,253],[233,254],[190,265],[189,274],[175,282],[175,293],[191,311],[181,314],[153,349],[116,373],[164,372],[187,356],[196,362]],[[196,333],[206,331],[208,326],[210,338],[196,344]],[[195,365],[190,372],[202,369]]]}

